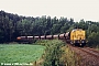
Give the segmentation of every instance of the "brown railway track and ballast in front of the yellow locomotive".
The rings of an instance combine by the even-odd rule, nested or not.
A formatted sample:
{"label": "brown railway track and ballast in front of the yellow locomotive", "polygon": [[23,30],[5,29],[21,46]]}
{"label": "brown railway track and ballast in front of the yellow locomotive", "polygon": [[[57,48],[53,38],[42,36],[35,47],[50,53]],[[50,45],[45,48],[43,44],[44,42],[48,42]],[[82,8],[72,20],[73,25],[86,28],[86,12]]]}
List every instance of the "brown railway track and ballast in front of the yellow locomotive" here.
{"label": "brown railway track and ballast in front of the yellow locomotive", "polygon": [[80,66],[99,66],[99,51],[90,47],[75,47],[69,45],[78,56],[81,57]]}

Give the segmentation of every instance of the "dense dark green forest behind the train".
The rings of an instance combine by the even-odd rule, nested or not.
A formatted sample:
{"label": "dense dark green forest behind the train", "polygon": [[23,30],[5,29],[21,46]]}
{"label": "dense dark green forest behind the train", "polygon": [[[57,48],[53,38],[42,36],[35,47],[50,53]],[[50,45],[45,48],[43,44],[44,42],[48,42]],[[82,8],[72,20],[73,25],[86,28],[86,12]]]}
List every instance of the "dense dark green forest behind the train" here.
{"label": "dense dark green forest behind the train", "polygon": [[74,19],[64,16],[23,16],[0,11],[0,43],[14,42],[21,35],[61,34],[76,28],[86,30],[89,45],[99,44],[99,22],[84,19],[75,22]]}

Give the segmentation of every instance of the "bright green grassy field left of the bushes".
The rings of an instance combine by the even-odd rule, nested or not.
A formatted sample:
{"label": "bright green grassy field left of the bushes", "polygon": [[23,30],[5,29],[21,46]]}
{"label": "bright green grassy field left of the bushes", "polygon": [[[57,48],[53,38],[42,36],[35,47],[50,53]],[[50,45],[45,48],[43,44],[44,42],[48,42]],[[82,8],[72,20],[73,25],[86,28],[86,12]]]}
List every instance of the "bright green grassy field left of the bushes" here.
{"label": "bright green grassy field left of the bushes", "polygon": [[44,53],[45,46],[29,44],[0,44],[0,63],[32,63]]}

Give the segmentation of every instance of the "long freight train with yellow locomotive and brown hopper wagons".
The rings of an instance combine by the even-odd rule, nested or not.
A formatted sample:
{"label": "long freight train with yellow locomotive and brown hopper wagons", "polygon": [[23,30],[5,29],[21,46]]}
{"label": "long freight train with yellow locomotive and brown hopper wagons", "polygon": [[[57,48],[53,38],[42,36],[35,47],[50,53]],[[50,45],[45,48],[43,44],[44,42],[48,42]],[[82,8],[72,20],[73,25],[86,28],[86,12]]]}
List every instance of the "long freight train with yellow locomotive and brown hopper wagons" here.
{"label": "long freight train with yellow locomotive and brown hopper wagons", "polygon": [[19,42],[32,43],[34,40],[65,40],[67,43],[84,47],[87,43],[86,41],[86,32],[81,29],[75,29],[70,32],[63,33],[59,35],[42,35],[42,36],[19,36],[16,40]]}

